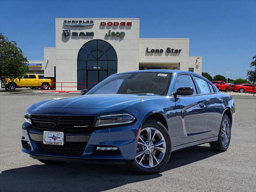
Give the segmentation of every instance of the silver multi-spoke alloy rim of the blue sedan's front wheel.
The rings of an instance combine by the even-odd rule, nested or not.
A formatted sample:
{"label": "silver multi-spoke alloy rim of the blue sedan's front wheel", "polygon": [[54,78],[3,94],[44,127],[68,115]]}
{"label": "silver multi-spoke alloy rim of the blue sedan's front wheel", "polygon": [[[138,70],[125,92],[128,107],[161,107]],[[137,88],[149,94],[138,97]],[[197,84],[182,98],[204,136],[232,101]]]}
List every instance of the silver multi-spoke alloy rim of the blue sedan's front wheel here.
{"label": "silver multi-spoke alloy rim of the blue sedan's front wheel", "polygon": [[136,162],[145,168],[155,167],[163,160],[166,152],[166,141],[156,128],[147,127],[140,131]]}

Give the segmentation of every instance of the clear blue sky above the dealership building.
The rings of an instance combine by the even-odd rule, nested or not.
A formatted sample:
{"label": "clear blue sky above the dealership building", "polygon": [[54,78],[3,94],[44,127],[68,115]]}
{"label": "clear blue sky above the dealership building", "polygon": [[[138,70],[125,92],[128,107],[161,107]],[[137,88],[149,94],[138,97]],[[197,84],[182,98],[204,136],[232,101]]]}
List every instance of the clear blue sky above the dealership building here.
{"label": "clear blue sky above the dealership building", "polygon": [[0,32],[28,60],[55,46],[54,18],[140,18],[140,38],[190,38],[203,72],[246,78],[256,54],[256,0],[0,0]]}

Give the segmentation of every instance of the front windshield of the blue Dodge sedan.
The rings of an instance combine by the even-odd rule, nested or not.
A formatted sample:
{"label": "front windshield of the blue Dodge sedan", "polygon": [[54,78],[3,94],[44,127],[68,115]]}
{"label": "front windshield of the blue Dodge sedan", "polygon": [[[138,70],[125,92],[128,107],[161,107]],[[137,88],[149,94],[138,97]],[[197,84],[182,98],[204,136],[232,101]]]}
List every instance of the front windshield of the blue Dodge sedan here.
{"label": "front windshield of the blue Dodge sedan", "polygon": [[135,72],[109,76],[91,88],[89,94],[166,95],[172,73]]}

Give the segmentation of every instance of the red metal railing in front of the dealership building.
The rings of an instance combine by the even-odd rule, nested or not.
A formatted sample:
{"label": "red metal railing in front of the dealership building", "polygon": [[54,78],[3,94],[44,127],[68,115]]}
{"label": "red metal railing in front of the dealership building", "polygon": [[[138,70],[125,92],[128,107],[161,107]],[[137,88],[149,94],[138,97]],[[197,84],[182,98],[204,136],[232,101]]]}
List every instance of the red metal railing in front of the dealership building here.
{"label": "red metal railing in front of the dealership building", "polygon": [[[85,84],[85,86],[65,86],[65,84],[67,83],[71,83],[71,84]],[[41,84],[41,91],[42,92],[59,92],[59,93],[70,93],[70,92],[80,92],[79,90],[77,90],[77,88],[82,88],[82,89],[86,89],[87,88],[87,84],[97,84],[98,82],[52,82],[52,84],[54,84],[55,86],[48,86],[48,89],[52,88],[51,90],[48,89],[44,89],[43,88],[43,84]],[[60,86],[57,86],[58,84],[60,84]],[[57,90],[60,87],[60,90]],[[76,87],[76,90],[66,90],[67,87],[70,88],[74,88]],[[88,88],[91,88],[92,86],[88,86]],[[55,90],[54,90],[55,88]]]}

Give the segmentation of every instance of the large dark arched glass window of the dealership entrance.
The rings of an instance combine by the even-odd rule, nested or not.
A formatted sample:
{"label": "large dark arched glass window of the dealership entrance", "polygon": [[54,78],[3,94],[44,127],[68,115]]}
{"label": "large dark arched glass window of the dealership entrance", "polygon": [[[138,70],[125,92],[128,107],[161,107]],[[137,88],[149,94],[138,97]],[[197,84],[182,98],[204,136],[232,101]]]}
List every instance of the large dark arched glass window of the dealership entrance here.
{"label": "large dark arched glass window of the dealership entrance", "polygon": [[91,40],[81,47],[77,57],[78,90],[91,88],[115,73],[117,73],[116,51],[108,42]]}

